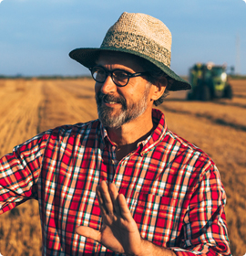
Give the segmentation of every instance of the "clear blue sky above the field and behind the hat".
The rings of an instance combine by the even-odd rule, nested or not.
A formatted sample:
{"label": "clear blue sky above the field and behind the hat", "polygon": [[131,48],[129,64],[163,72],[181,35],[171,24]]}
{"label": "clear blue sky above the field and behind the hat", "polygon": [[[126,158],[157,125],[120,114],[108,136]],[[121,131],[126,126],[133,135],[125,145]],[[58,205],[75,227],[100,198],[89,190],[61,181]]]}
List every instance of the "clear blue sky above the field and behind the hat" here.
{"label": "clear blue sky above the field and behind the hat", "polygon": [[87,75],[68,57],[97,48],[123,12],[159,18],[172,33],[171,69],[234,66],[246,75],[246,0],[0,0],[0,75]]}

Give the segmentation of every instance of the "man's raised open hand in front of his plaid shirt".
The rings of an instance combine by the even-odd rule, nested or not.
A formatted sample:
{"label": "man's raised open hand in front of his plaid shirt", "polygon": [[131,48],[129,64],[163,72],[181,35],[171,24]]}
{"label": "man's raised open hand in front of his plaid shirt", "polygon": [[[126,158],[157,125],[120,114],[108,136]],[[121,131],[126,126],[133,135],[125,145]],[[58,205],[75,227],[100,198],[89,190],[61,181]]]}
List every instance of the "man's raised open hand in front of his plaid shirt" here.
{"label": "man's raised open hand in front of his plaid shirt", "polygon": [[97,186],[97,199],[103,224],[100,230],[77,227],[77,234],[97,240],[111,251],[130,255],[141,254],[143,240],[128,209],[126,198],[118,194],[114,184],[102,181]]}

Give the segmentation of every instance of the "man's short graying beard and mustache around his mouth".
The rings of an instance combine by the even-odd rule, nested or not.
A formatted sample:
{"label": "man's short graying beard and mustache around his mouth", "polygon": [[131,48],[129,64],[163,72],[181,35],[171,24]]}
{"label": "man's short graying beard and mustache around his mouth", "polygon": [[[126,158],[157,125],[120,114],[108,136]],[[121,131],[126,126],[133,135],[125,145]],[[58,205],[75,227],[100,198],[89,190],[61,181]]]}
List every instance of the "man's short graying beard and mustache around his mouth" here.
{"label": "man's short graying beard and mustache around his mouth", "polygon": [[[124,97],[120,96],[119,98],[116,98],[112,95],[103,94],[102,92],[98,91],[96,95],[98,118],[105,127],[119,128],[123,124],[129,123],[130,121],[136,119],[146,111],[148,105],[148,96],[149,90],[147,89],[142,99],[127,106]],[[103,101],[117,101],[122,105],[122,108],[113,114],[112,108],[104,105]]]}

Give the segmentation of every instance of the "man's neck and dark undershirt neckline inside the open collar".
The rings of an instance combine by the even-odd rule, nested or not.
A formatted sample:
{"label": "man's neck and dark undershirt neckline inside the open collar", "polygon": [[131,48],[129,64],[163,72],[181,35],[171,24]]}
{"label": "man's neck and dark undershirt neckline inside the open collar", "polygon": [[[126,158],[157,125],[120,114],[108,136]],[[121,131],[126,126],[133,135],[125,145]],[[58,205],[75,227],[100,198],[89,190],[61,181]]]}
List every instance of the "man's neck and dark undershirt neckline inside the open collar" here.
{"label": "man's neck and dark undershirt neckline inside the open collar", "polygon": [[152,116],[148,120],[138,120],[138,118],[130,123],[125,123],[119,128],[108,128],[108,136],[110,140],[117,145],[117,160],[121,160],[124,156],[137,148],[140,141],[145,140],[153,131]]}

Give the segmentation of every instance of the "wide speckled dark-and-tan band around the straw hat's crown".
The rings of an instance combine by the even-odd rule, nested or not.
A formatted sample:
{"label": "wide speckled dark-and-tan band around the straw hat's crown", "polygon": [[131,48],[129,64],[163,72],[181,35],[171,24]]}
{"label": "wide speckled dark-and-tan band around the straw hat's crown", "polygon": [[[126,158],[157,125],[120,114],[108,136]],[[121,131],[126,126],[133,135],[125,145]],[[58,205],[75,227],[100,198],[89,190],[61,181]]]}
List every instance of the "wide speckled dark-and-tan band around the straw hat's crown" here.
{"label": "wide speckled dark-and-tan band around the straw hat's crown", "polygon": [[128,32],[108,31],[100,48],[128,49],[135,51],[137,55],[139,53],[148,56],[170,67],[170,51],[156,42],[149,40],[149,38],[140,35]]}

